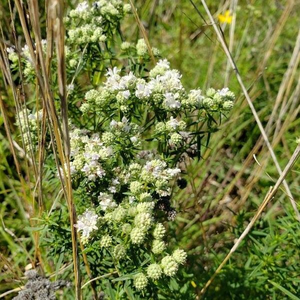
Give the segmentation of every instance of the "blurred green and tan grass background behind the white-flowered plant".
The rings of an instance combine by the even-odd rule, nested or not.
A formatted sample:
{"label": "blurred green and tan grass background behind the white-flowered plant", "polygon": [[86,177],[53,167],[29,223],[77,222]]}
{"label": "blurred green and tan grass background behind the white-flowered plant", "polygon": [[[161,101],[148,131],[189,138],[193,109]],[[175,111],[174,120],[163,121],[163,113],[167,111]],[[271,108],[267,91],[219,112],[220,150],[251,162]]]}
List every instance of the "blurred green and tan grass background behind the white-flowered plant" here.
{"label": "blurred green and tan grass background behind the white-flowered plant", "polygon": [[[207,20],[200,2],[195,3]],[[44,3],[39,1],[38,4],[44,34]],[[66,4],[66,7],[75,5],[71,1]],[[171,66],[183,73],[185,87],[221,88],[228,76],[228,87],[238,96],[233,112],[222,128],[212,135],[209,148],[203,147],[202,158],[191,161],[188,166],[187,188],[173,195],[174,206],[179,213],[176,221],[169,224],[168,236],[171,243],[188,250],[188,259],[182,274],[184,281],[174,280],[170,288],[174,294],[181,294],[178,299],[192,299],[228,253],[278,174],[265,145],[260,145],[254,152],[262,167],[253,158],[251,150],[260,132],[233,72],[226,71],[227,60],[211,24],[204,23],[188,0],[136,0],[134,4],[151,46],[159,48],[161,56],[168,58]],[[232,7],[232,1],[226,0],[207,1],[207,4],[216,21],[219,14]],[[275,99],[295,46],[299,9],[299,1],[257,0],[238,1],[234,10],[236,22],[232,54],[264,126],[274,110]],[[287,18],[284,19],[282,15],[286,10]],[[14,15],[17,36],[23,43],[15,11]],[[5,0],[0,2],[0,18],[5,39],[12,42]],[[282,26],[278,28],[280,24]],[[229,42],[230,24],[221,23],[220,26]],[[278,36],[274,33],[276,28]],[[140,37],[133,15],[126,17],[121,31],[124,39],[132,42]],[[295,67],[288,84],[284,85],[282,102],[274,112],[275,122],[269,134],[282,168],[290,158],[299,136],[298,78],[299,69]],[[87,78],[82,76],[80,81],[80,85],[84,86]],[[0,82],[11,134],[17,141],[19,132],[14,125],[15,108],[11,90],[5,88],[3,80]],[[286,112],[279,114],[285,104]],[[53,170],[44,170],[43,190],[48,209],[55,202],[61,208],[61,213],[55,212],[50,217],[43,215],[43,223],[39,221],[40,227],[34,228],[28,217],[31,202],[28,191],[32,186],[22,185],[19,181],[1,118],[0,122],[0,292],[24,284],[22,276],[30,257],[34,256],[32,241],[37,229],[41,230],[41,256],[45,261],[45,272],[53,274],[55,278],[69,278],[72,270],[67,262],[71,258],[66,249],[71,247],[70,230],[68,225],[61,226],[67,224],[67,220],[63,220],[67,208],[65,202],[57,197],[59,183],[51,175]],[[275,129],[282,125],[282,132]],[[19,151],[18,155],[21,156],[22,152]],[[21,163],[23,175],[26,176],[25,159],[21,159]],[[299,177],[297,163],[286,177],[296,200],[300,196]],[[86,195],[76,194],[75,197],[84,198]],[[203,298],[289,298],[282,288],[299,295],[299,229],[288,197],[283,190],[279,190]],[[60,272],[62,267],[65,268]],[[99,260],[101,272],[102,267]],[[108,279],[97,282],[106,286],[111,284]],[[84,287],[83,298],[89,298],[90,292],[89,286]],[[10,293],[5,298],[14,295]],[[71,289],[60,291],[60,296],[63,299],[74,297]],[[114,298],[112,289],[110,297]]]}

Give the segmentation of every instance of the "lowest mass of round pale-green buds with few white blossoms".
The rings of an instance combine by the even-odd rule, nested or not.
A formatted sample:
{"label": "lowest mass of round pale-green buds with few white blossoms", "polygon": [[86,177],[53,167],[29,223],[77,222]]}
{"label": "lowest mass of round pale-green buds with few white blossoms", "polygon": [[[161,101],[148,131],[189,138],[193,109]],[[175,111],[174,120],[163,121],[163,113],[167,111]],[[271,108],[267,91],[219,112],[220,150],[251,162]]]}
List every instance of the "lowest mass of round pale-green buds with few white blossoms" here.
{"label": "lowest mass of round pale-green buds with few white blossoms", "polygon": [[[144,165],[131,164],[128,170],[133,179],[136,179],[137,173],[140,172],[148,182],[151,181],[150,178],[168,180],[180,171],[167,168],[166,163],[159,160],[148,161]],[[123,180],[119,178],[113,180],[115,184],[128,180],[128,193],[134,196],[124,195],[122,201],[117,204],[113,199],[113,194],[100,192],[99,205],[96,208],[99,211],[98,214],[87,209],[78,216],[76,227],[81,232],[81,239],[84,243],[91,241],[93,236],[101,236],[100,247],[108,249],[116,261],[122,261],[126,257],[129,257],[130,261],[132,259],[130,255],[136,255],[138,249],[136,246],[143,245],[145,249],[147,245],[150,245],[149,254],[157,262],[143,265],[146,275],[141,272],[139,278],[136,276],[133,278],[136,289],[143,289],[148,279],[156,280],[163,275],[175,275],[179,264],[185,261],[186,253],[177,249],[171,255],[167,254],[166,243],[163,241],[166,230],[162,223],[155,221],[156,200],[152,198],[151,188],[144,184],[145,179],[129,182],[130,177],[126,176],[128,170],[123,172]],[[135,250],[129,251],[129,248]]]}

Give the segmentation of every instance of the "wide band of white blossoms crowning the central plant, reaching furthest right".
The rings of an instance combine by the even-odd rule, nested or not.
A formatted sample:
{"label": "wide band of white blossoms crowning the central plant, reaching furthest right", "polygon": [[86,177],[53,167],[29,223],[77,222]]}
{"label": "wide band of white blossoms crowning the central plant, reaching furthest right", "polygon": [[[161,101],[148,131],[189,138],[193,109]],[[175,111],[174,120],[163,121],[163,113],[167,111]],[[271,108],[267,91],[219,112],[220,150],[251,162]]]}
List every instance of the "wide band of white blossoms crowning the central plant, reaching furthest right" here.
{"label": "wide band of white blossoms crowning the central plant, reaching furthest right", "polygon": [[150,70],[148,80],[137,78],[132,72],[120,76],[120,71],[117,67],[109,69],[104,85],[97,91],[86,93],[87,101],[82,104],[82,111],[104,110],[115,100],[123,112],[132,110],[139,103],[178,113],[184,109],[229,110],[233,106],[234,94],[228,88],[217,91],[209,88],[205,95],[200,89],[187,93],[180,81],[181,74],[170,69],[166,59],[160,59]]}

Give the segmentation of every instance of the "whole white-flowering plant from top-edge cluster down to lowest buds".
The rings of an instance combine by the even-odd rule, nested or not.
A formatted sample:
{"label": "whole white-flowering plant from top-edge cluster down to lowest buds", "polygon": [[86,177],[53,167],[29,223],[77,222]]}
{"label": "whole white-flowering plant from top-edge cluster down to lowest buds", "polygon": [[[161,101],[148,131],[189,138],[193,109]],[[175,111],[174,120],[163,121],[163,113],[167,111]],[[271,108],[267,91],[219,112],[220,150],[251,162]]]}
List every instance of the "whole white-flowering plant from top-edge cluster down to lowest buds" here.
{"label": "whole white-flowering plant from top-edge cluster down to lowest buds", "polygon": [[[84,263],[92,277],[103,271],[110,276],[108,283],[100,282],[104,293],[168,297],[169,284],[177,272],[184,273],[179,266],[187,257],[184,249],[168,245],[168,222],[177,214],[172,195],[187,184],[186,157],[200,159],[203,142],[208,145],[232,108],[234,94],[228,88],[187,91],[182,75],[166,59],[150,69],[143,39],[135,46],[122,42],[121,53],[113,53],[113,38],[128,11],[120,0],[83,1],[65,18],[70,167],[64,173],[68,178],[59,169],[58,174],[71,179]],[[152,51],[159,55],[156,48]],[[13,67],[18,55],[11,48],[8,52]],[[32,82],[28,57],[23,49],[24,76]],[[115,65],[111,57],[119,58]],[[78,69],[88,73],[88,86],[74,85]],[[52,82],[58,98],[55,77]],[[18,124],[32,137],[25,145],[34,145],[42,114],[27,114],[29,122],[19,116]],[[50,228],[57,234],[57,227]]]}

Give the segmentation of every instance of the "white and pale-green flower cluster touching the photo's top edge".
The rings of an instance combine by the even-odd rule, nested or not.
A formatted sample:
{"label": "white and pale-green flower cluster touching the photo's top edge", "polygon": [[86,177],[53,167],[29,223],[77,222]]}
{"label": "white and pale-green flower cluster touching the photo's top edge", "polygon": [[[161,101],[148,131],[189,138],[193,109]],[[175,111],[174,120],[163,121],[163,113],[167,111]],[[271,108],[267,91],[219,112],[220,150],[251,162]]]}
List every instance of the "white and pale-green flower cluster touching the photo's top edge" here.
{"label": "white and pale-green flower cluster touching the photo's top edge", "polygon": [[68,40],[74,44],[95,43],[106,40],[109,30],[114,30],[130,5],[121,0],[99,0],[91,5],[83,1],[66,17]]}

